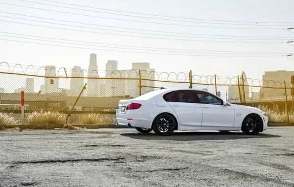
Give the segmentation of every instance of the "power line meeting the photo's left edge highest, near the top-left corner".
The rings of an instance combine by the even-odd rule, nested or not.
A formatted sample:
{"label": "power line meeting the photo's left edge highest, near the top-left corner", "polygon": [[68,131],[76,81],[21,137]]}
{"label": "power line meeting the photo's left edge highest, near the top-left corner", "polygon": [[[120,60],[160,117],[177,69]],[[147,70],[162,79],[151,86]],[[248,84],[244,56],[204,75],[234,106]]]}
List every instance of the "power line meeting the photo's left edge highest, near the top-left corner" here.
{"label": "power line meeting the photo's left edge highest, near the top-left corner", "polygon": [[86,15],[86,14],[77,14],[72,12],[63,12],[63,11],[57,11],[57,10],[49,10],[44,8],[37,8],[37,7],[31,7],[31,6],[23,6],[18,4],[10,4],[5,2],[0,2],[2,4],[8,4],[13,6],[20,6],[20,7],[26,7],[26,8],[33,8],[38,10],[45,10],[45,11],[51,11],[51,12],[59,12],[59,13],[65,13],[65,14],[72,14],[72,15],[79,15],[79,16],[87,16],[87,17],[95,17],[95,18],[104,18],[104,19],[111,19],[111,20],[120,20],[120,21],[129,21],[129,22],[139,22],[139,23],[149,23],[149,24],[159,24],[159,25],[173,25],[173,26],[186,26],[186,27],[202,27],[202,28],[219,28],[219,29],[252,29],[252,30],[285,30],[288,28],[233,28],[233,27],[211,27],[211,26],[195,26],[195,25],[181,25],[181,24],[168,24],[168,23],[156,23],[156,22],[145,22],[145,21],[137,21],[137,20],[125,20],[125,19],[118,19],[118,18],[109,18],[109,17],[101,17],[101,16],[93,16],[93,15]]}

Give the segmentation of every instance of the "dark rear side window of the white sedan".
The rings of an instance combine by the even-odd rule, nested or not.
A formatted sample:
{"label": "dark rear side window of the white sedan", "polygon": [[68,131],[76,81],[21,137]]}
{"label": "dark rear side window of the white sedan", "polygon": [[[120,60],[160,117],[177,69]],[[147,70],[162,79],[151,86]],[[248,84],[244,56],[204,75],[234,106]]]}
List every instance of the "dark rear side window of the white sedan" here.
{"label": "dark rear side window of the white sedan", "polygon": [[196,98],[191,91],[175,91],[163,95],[163,98],[167,102],[185,102],[196,103]]}

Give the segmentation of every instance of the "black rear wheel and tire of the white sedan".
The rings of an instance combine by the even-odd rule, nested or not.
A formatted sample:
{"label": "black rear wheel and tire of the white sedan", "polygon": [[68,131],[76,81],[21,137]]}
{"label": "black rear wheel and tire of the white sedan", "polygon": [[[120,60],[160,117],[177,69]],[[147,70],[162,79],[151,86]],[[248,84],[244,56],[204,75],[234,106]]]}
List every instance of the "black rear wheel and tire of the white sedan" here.
{"label": "black rear wheel and tire of the white sedan", "polygon": [[153,131],[157,135],[171,135],[176,128],[176,119],[167,113],[159,114],[153,122]]}

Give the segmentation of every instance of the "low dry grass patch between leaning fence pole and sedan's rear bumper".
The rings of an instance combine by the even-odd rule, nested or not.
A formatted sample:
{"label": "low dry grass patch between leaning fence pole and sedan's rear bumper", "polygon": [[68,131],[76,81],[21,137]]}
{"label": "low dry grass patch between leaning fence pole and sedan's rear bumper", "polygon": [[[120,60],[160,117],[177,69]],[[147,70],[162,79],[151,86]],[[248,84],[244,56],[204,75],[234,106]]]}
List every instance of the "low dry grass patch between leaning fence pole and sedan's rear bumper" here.
{"label": "low dry grass patch between leaning fence pole and sedan's rear bumper", "polygon": [[100,114],[86,114],[79,117],[72,124],[115,124],[115,115],[113,116],[102,116]]}

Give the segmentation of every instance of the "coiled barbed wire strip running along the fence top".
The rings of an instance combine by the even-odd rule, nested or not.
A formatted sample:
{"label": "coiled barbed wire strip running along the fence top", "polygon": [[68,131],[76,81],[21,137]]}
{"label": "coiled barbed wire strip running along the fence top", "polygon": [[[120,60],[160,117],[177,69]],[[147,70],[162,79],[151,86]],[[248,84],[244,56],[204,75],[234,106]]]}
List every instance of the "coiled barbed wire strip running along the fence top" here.
{"label": "coiled barbed wire strip running along the fence top", "polygon": [[[41,72],[43,70],[43,72]],[[74,73],[73,73],[74,72]],[[185,72],[157,72],[146,71],[138,69],[129,70],[86,70],[86,69],[74,69],[65,67],[46,67],[46,66],[34,66],[24,65],[20,63],[7,63],[0,62],[0,73],[18,74],[18,75],[35,75],[41,77],[65,77],[65,78],[105,78],[105,79],[141,79],[151,81],[169,81],[169,82],[186,82],[189,83],[189,73]],[[284,81],[273,80],[259,80],[251,79],[239,76],[239,85],[245,86],[258,86],[258,87],[272,87],[272,88],[284,88]],[[220,77],[218,75],[192,75],[192,84],[208,84],[208,85],[222,85],[222,86],[234,86],[238,85],[238,76],[233,77]],[[290,82],[286,82],[287,88],[292,87]]]}

